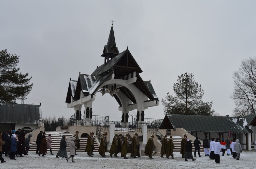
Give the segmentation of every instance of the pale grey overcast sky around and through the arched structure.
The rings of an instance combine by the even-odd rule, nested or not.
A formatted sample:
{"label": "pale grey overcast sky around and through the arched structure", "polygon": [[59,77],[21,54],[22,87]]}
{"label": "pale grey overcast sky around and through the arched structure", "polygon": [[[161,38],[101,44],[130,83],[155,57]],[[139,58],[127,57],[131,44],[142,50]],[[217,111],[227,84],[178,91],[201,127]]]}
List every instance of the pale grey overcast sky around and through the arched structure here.
{"label": "pale grey overcast sky around and through the arched structure", "polygon": [[[193,73],[203,101],[231,115],[233,71],[256,56],[256,1],[0,0],[0,6],[0,50],[20,56],[20,71],[34,83],[25,104],[41,102],[43,117],[74,114],[65,103],[69,79],[104,63],[111,19],[119,52],[129,47],[159,100],[173,94],[178,75]],[[93,115],[120,121],[122,112],[113,97],[98,92]],[[161,102],[145,109],[145,118],[163,117]]]}

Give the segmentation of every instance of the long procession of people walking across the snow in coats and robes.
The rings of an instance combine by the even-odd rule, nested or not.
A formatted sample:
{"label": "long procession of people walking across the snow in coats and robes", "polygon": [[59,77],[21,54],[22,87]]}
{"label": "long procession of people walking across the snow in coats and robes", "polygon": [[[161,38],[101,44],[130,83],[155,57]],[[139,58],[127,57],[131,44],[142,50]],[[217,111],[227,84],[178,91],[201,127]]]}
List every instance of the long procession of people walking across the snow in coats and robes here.
{"label": "long procession of people walking across the snow in coats and robes", "polygon": [[[29,143],[30,143],[30,137],[32,134],[29,134],[27,138],[25,138],[25,131],[18,130],[18,134],[20,134],[20,137],[18,134],[16,134],[16,131],[6,131],[5,133],[1,133],[0,135],[0,159],[1,162],[4,163],[5,160],[2,157],[2,154],[5,156],[9,156],[10,159],[16,159],[16,156],[23,157],[24,155],[28,155],[29,150]],[[10,134],[11,133],[11,134]],[[40,133],[37,135],[37,151],[36,153],[39,154],[39,156],[45,156],[47,149],[50,149],[51,155],[52,153],[52,139],[51,134],[48,134],[48,137],[46,138],[45,132],[40,131]],[[107,132],[103,133],[103,136],[101,137],[100,146],[99,146],[99,154],[102,157],[106,157],[106,152],[108,152],[108,141],[107,141]],[[195,161],[196,159],[193,158],[192,154],[192,141],[187,138],[187,135],[184,134],[184,137],[181,140],[181,149],[180,153],[182,154],[182,158],[185,158],[185,161],[188,161],[187,159],[192,159]],[[139,144],[139,135],[138,133],[134,133],[134,135],[131,137],[131,144],[129,144],[129,137],[130,134],[127,133],[125,135],[123,134],[115,134],[112,139],[111,148],[109,151],[110,157],[119,157],[118,153],[121,154],[120,157],[124,157],[124,159],[128,159],[127,153],[130,153],[130,157],[132,158],[138,158],[141,157],[140,155],[140,144]],[[60,147],[58,150],[58,153],[56,155],[57,158],[62,157],[66,158],[67,162],[69,162],[69,159],[72,158],[72,162],[74,161],[74,156],[76,154],[76,150],[80,148],[80,139],[79,139],[79,131],[76,131],[74,136],[71,138],[70,142],[70,156],[68,157],[67,154],[67,141],[66,136],[62,135],[62,139],[60,141]],[[85,148],[85,152],[87,152],[87,155],[90,157],[93,157],[93,150],[94,147],[94,132],[90,132],[87,139],[87,144]],[[200,155],[200,147],[201,144],[198,137],[196,137],[194,141],[194,156],[196,157],[196,151],[198,151],[198,156]],[[154,135],[151,135],[150,138],[148,138],[144,154],[148,156],[150,159],[153,159],[153,152],[155,151],[156,146],[154,143]],[[164,158],[163,155],[166,155],[166,157],[169,159],[174,158],[173,155],[173,149],[174,142],[172,139],[172,136],[169,136],[167,138],[167,135],[163,136],[163,139],[161,140],[161,151],[160,151],[160,157]],[[210,159],[214,159],[216,163],[220,163],[220,155],[224,156],[225,152],[227,151],[227,155],[232,155],[233,158],[236,158],[239,160],[241,158],[240,153],[242,152],[241,144],[239,143],[239,139],[229,140],[229,137],[224,141],[222,139],[221,142],[219,142],[219,138],[211,138],[208,140],[207,136],[203,139],[203,149],[205,156],[209,156]],[[230,151],[231,149],[231,151]],[[222,153],[221,153],[222,150]]]}

